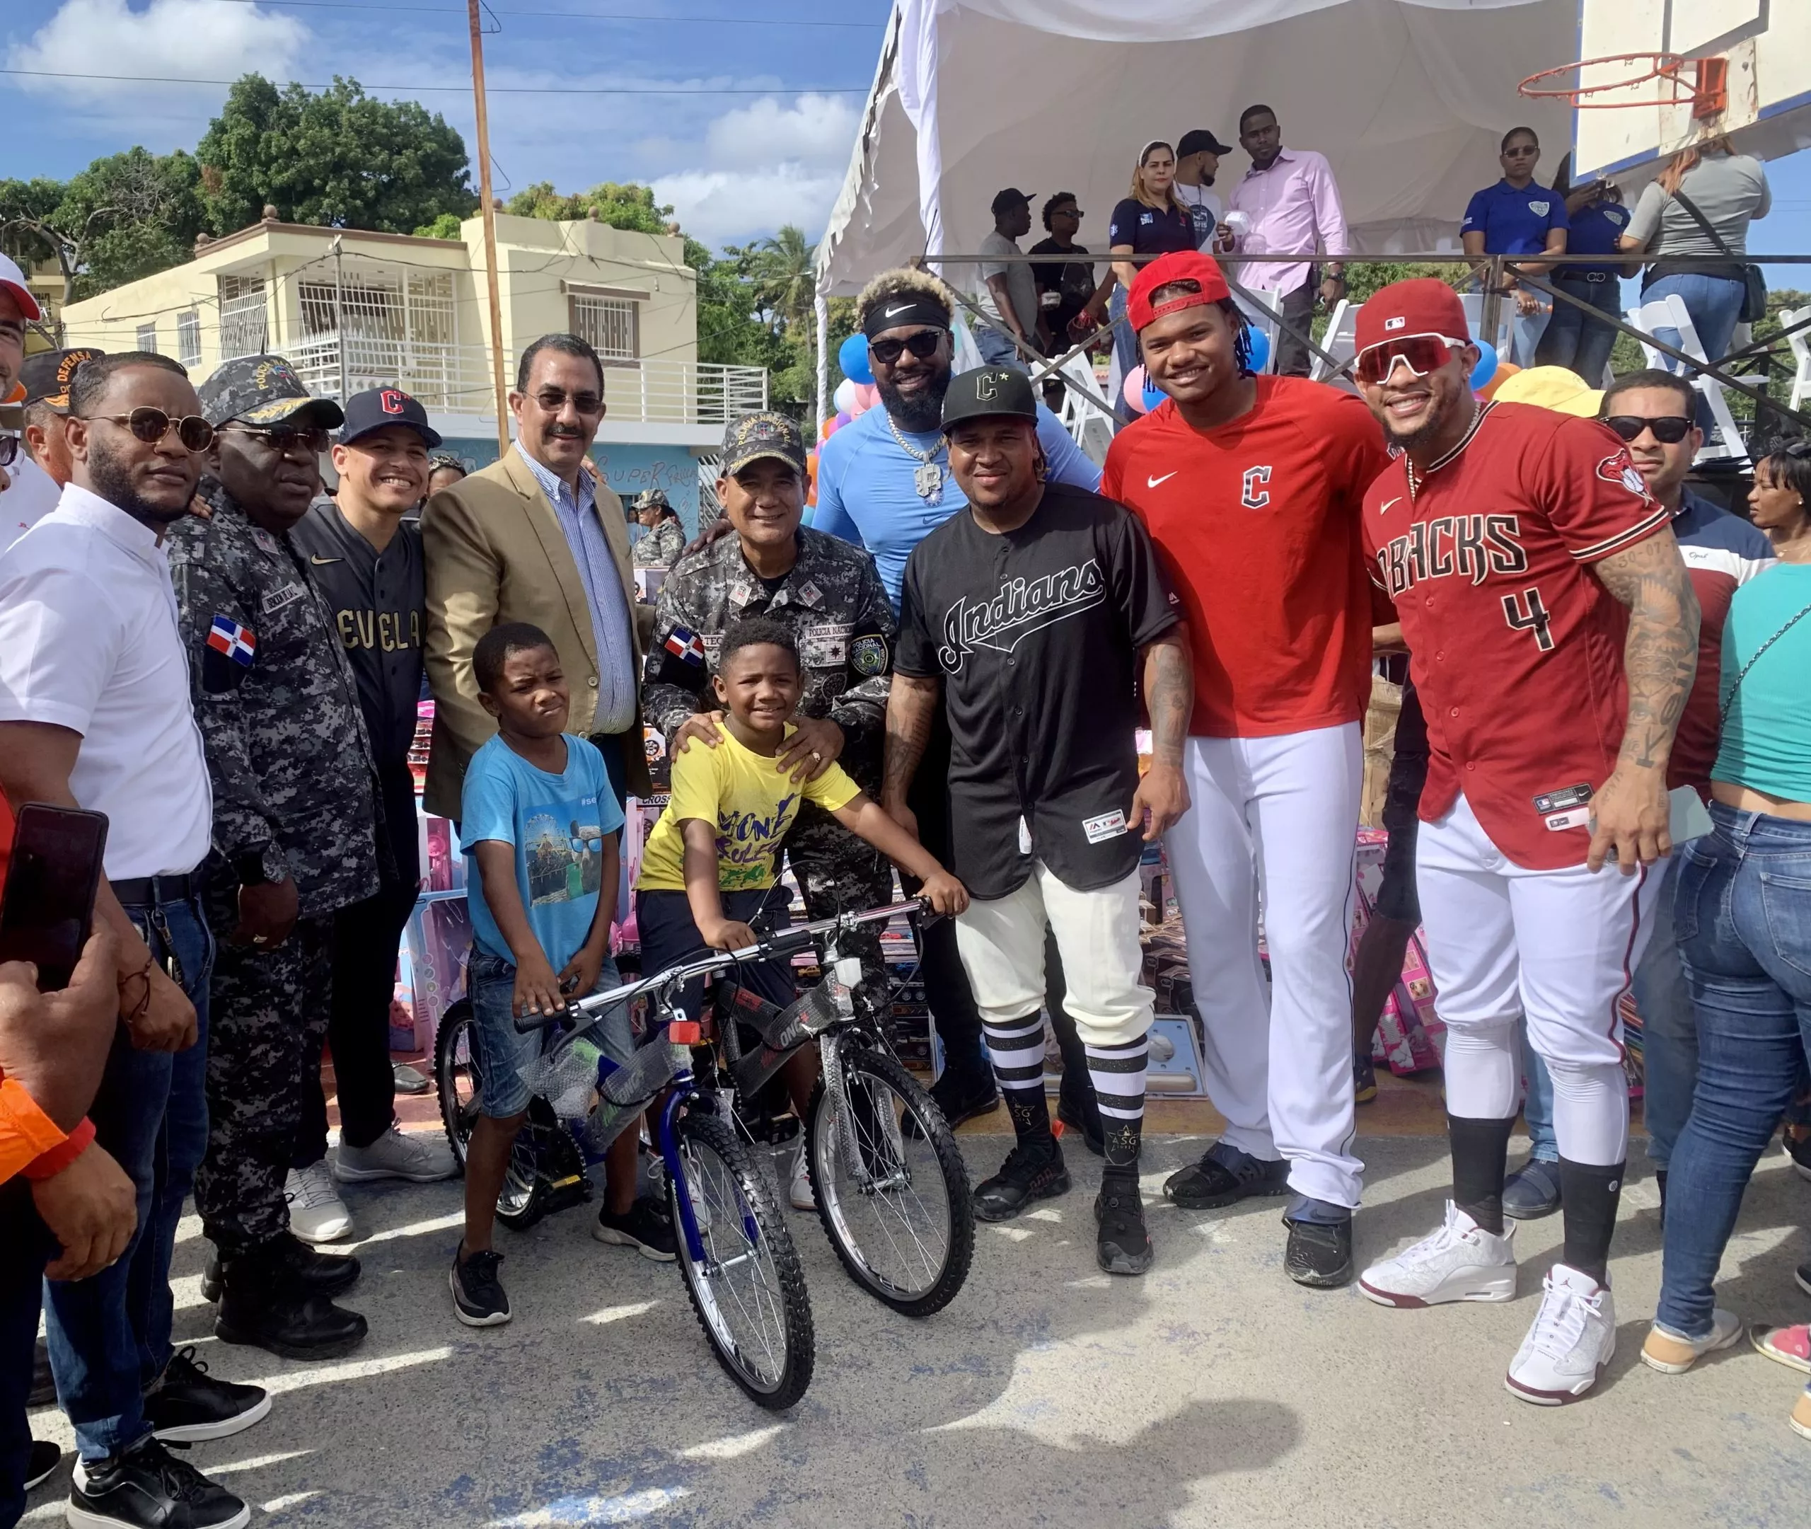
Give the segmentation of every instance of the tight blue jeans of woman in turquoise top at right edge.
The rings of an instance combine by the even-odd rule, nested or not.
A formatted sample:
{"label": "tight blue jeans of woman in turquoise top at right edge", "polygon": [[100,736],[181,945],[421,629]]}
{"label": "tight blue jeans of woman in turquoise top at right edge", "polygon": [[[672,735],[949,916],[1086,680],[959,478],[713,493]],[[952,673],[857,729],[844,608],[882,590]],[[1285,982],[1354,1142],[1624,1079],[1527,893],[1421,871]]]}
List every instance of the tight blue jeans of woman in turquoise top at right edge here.
{"label": "tight blue jeans of woman in turquoise top at right edge", "polygon": [[1711,1330],[1713,1286],[1755,1163],[1811,1049],[1811,822],[1711,803],[1715,833],[1681,851],[1673,920],[1699,1020],[1691,1118],[1666,1183],[1655,1317]]}

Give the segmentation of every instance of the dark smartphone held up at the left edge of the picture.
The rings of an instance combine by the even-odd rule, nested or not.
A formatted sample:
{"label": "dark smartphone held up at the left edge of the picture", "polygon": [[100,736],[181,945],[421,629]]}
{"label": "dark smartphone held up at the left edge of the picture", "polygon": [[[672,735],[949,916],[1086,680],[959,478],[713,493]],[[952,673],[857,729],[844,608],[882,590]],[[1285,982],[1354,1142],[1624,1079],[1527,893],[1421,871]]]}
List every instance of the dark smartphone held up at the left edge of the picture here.
{"label": "dark smartphone held up at the left edge of the picture", "polygon": [[38,991],[69,986],[94,922],[94,890],[107,848],[107,813],[25,803],[13,830],[0,960],[38,966]]}

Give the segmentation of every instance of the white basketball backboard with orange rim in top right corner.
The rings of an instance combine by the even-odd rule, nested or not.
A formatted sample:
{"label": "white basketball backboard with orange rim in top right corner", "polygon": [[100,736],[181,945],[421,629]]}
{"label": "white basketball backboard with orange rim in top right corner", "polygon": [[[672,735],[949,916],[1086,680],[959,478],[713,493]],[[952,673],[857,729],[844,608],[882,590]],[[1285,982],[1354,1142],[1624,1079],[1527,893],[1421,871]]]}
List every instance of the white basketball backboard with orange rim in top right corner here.
{"label": "white basketball backboard with orange rim in top right corner", "polygon": [[1672,78],[1583,98],[1574,181],[1614,176],[1639,185],[1672,154],[1719,134],[1760,158],[1811,147],[1811,0],[1579,0],[1577,45],[1579,58],[1612,62],[1543,83],[1610,85],[1652,69],[1652,54],[1684,63]]}

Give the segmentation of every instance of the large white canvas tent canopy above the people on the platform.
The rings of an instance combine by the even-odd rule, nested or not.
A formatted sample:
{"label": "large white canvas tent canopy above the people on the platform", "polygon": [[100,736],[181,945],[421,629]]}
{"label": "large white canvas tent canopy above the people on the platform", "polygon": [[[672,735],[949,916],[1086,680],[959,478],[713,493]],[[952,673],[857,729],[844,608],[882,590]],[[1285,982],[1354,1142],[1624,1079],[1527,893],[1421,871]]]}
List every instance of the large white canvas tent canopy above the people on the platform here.
{"label": "large white canvas tent canopy above the people on the platform", "polygon": [[[1192,127],[1235,143],[1255,101],[1284,145],[1331,159],[1353,254],[1458,250],[1507,129],[1534,127],[1538,176],[1557,168],[1570,111],[1516,83],[1576,54],[1577,0],[896,0],[819,290],[973,254],[1007,185],[1076,192],[1081,243],[1105,250],[1143,143]],[[1219,190],[1248,163],[1226,156]]]}

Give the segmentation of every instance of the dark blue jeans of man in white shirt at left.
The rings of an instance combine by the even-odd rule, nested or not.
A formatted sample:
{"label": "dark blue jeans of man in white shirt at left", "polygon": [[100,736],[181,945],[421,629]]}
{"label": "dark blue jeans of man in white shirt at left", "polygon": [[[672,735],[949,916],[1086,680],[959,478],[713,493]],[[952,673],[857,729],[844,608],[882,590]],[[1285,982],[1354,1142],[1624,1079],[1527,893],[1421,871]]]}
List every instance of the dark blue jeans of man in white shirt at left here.
{"label": "dark blue jeans of man in white shirt at left", "polygon": [[120,1261],[92,1279],[43,1286],[56,1397],[74,1424],[83,1460],[127,1449],[150,1431],[139,1399],[170,1362],[170,1252],[208,1145],[214,937],[199,899],[125,913],[152,957],[174,962],[196,1005],[199,1038],[188,1051],[138,1051],[121,1029],[89,1109],[94,1140],[138,1188],[138,1230]]}

